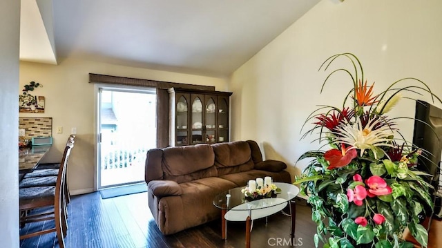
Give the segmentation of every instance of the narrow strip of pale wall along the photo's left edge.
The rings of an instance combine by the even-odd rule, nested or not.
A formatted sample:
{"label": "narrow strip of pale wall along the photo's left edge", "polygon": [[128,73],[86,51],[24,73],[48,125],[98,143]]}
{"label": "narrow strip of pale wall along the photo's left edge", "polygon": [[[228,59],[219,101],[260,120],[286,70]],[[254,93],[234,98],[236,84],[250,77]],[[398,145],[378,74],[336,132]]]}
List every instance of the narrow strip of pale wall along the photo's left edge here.
{"label": "narrow strip of pale wall along the photo's left edge", "polygon": [[20,1],[0,3],[0,231],[1,247],[19,247]]}

